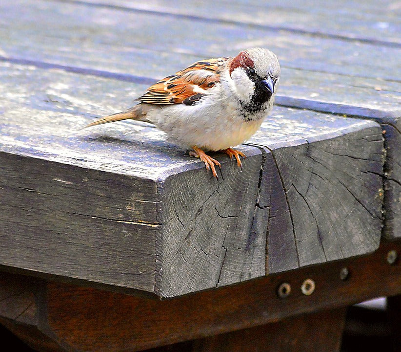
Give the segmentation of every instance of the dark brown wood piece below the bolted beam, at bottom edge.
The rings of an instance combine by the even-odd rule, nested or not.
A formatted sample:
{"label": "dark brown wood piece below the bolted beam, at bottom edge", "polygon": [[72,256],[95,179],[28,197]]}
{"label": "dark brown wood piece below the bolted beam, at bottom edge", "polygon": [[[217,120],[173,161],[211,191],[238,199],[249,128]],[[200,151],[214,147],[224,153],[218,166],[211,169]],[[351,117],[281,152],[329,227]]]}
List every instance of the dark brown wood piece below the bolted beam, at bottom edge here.
{"label": "dark brown wood piece below the bolted beam, at bottom edge", "polygon": [[194,342],[193,352],[334,352],[341,346],[346,308],[284,319]]}

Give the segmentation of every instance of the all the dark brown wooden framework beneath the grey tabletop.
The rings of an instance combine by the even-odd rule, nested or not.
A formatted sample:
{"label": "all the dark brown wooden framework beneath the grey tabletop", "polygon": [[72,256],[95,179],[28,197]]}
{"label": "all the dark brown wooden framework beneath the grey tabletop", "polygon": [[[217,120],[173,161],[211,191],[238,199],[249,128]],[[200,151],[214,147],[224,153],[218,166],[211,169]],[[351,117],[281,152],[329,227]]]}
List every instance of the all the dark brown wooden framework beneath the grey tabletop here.
{"label": "all the dark brown wooden framework beneath the grey tabletop", "polygon": [[[182,342],[170,351],[332,352],[343,328],[339,307],[400,295],[401,266],[386,259],[399,247],[382,242],[366,256],[163,301],[1,273],[0,324],[39,351],[134,352]],[[309,296],[301,292],[307,278],[316,283]],[[282,283],[293,287],[285,299]]]}

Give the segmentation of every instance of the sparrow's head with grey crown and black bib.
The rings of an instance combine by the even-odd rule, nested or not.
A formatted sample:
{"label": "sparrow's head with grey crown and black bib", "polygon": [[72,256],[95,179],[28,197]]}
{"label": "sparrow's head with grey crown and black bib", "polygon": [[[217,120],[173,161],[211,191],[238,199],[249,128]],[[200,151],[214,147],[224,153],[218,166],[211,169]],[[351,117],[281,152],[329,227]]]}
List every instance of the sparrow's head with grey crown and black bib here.
{"label": "sparrow's head with grey crown and black bib", "polygon": [[256,47],[241,51],[228,69],[235,93],[244,104],[264,104],[276,93],[280,64],[270,50]]}

